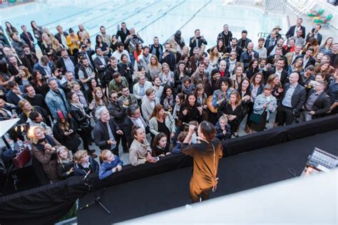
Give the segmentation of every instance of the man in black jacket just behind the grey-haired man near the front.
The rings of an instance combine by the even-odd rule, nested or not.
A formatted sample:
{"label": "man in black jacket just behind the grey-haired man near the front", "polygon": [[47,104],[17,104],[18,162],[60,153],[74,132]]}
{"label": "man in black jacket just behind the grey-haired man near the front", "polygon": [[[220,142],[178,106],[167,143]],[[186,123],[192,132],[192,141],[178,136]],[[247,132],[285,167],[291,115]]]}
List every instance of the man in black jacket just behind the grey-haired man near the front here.
{"label": "man in black jacket just behind the grey-haired man near the front", "polygon": [[[118,93],[115,90],[112,90],[109,93],[109,98],[111,102],[108,105],[108,111],[111,114],[111,117],[115,120],[118,127],[123,130],[124,120],[126,120],[127,116],[127,108],[128,106],[123,105],[120,101],[118,101]],[[117,135],[116,137],[116,145],[120,144],[122,140],[123,152],[128,152],[127,138],[126,135]]]}

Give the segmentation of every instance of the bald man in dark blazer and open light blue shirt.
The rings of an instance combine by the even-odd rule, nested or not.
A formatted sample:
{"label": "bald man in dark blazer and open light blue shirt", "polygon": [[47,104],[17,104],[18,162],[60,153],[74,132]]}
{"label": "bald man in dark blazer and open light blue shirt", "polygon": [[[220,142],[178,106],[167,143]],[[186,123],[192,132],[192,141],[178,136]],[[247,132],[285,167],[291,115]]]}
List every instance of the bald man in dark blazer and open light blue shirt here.
{"label": "bald man in dark blazer and open light blue shirt", "polygon": [[290,125],[295,117],[299,117],[305,102],[306,90],[299,85],[299,74],[291,73],[289,83],[283,88],[280,105],[277,109],[278,125]]}

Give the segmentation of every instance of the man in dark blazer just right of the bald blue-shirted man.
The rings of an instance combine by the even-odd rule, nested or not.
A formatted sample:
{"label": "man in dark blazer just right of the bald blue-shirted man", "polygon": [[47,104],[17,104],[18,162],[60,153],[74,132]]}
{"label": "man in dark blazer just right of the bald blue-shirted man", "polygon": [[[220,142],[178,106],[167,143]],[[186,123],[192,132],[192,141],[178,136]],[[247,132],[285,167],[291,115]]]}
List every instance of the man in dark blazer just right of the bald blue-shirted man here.
{"label": "man in dark blazer just right of the bald blue-shirted man", "polygon": [[302,120],[309,121],[318,117],[323,117],[329,112],[331,101],[329,95],[324,92],[327,83],[319,80],[315,83],[314,88],[309,91],[309,95],[302,111]]}

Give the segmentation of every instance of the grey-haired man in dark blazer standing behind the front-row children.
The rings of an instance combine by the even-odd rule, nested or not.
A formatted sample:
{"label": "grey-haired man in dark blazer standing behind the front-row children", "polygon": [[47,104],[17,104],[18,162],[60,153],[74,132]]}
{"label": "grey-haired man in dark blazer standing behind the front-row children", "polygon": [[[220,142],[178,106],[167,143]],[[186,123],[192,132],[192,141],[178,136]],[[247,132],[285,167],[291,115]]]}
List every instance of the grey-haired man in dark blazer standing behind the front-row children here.
{"label": "grey-haired man in dark blazer standing behind the front-row children", "polygon": [[96,118],[98,123],[93,130],[95,144],[101,150],[111,150],[114,155],[118,155],[117,135],[123,135],[123,131],[111,118],[106,106],[96,109]]}

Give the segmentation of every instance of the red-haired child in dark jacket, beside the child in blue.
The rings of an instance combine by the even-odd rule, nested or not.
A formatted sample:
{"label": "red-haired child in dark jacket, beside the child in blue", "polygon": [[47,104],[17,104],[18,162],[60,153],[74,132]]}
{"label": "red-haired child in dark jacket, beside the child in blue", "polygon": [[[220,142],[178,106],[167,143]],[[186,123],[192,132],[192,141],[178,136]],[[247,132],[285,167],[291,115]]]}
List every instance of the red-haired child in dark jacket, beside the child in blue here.
{"label": "red-haired child in dark jacket, beside the child in blue", "polygon": [[86,150],[78,150],[74,154],[74,176],[85,176],[89,171],[98,173],[98,162],[87,154]]}

